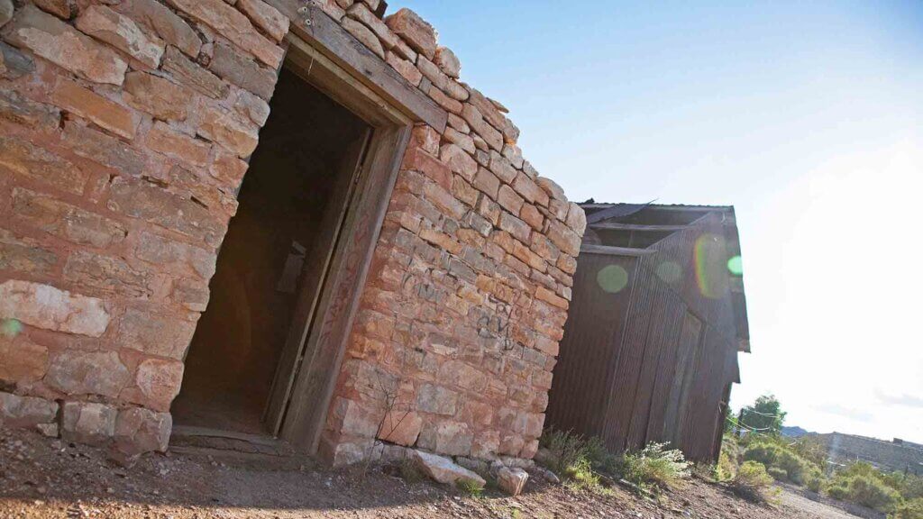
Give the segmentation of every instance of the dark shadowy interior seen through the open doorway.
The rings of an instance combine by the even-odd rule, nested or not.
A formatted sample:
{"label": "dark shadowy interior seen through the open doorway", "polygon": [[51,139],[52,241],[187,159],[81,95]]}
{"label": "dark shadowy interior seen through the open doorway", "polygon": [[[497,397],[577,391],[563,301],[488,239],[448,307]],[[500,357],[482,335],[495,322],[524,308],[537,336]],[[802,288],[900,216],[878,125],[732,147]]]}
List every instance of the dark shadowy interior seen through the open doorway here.
{"label": "dark shadowy interior seen through the open doorway", "polygon": [[[177,425],[264,434],[263,412],[288,333],[302,264],[328,200],[348,182],[364,121],[283,69],[211,279],[209,306],[173,404]],[[338,208],[333,208],[336,210]]]}

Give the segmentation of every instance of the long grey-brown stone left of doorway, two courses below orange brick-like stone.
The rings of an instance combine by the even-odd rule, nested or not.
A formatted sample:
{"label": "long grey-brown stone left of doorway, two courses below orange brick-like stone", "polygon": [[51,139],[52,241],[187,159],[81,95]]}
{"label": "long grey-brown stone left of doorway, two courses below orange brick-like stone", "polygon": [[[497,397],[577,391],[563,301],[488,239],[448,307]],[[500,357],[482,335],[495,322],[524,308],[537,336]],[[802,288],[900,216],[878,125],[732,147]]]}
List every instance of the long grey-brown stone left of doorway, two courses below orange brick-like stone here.
{"label": "long grey-brown stone left of doorway, two courses below orange brick-like stone", "polygon": [[106,207],[134,218],[156,223],[183,235],[198,237],[216,246],[224,225],[196,202],[182,198],[143,180],[116,178]]}

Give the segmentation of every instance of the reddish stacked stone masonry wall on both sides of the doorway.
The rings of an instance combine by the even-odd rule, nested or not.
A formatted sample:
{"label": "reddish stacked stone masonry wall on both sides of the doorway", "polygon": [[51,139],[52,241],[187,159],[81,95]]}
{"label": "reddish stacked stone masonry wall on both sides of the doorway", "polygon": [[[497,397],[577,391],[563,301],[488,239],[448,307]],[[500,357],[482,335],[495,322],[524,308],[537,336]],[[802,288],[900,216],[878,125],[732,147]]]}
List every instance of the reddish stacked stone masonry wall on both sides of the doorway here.
{"label": "reddish stacked stone masonry wall on both sides of the doorway", "polygon": [[[163,450],[290,23],[261,0],[0,0],[0,422]],[[412,11],[320,0],[449,115],[414,127],[330,403],[379,441],[531,458],[585,218]]]}

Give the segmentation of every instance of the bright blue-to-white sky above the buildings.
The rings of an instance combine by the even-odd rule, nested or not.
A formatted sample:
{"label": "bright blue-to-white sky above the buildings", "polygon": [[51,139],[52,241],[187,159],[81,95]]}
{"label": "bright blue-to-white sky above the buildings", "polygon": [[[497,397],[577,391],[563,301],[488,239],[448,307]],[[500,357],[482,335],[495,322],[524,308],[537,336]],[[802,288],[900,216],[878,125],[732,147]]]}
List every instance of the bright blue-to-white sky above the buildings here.
{"label": "bright blue-to-white sky above the buildings", "polygon": [[735,206],[735,409],[923,442],[923,3],[403,6],[569,199]]}

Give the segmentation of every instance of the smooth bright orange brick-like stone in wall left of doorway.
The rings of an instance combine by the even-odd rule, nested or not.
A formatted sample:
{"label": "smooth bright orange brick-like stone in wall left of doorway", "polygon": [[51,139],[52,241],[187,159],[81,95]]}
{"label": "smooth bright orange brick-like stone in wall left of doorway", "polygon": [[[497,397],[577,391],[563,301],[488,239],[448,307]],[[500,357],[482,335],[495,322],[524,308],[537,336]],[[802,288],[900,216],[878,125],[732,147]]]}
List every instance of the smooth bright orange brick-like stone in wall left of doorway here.
{"label": "smooth bright orange brick-like stone in wall left of doorway", "polygon": [[137,121],[130,109],[90,89],[85,89],[74,81],[58,79],[52,92],[52,100],[66,111],[89,119],[116,135],[126,139],[135,138]]}

